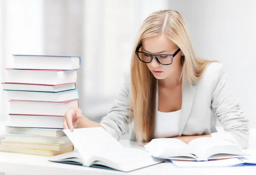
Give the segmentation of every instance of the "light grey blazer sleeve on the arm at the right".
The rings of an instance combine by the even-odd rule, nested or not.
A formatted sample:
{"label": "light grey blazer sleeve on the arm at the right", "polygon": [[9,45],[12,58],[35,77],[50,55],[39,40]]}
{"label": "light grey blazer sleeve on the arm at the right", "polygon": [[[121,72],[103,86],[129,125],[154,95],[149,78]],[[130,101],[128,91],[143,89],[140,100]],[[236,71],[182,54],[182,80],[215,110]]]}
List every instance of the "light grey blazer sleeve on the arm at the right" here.
{"label": "light grey blazer sleeve on the arm at the right", "polygon": [[240,148],[248,147],[249,120],[240,109],[239,102],[233,98],[226,85],[226,74],[219,68],[216,86],[212,92],[212,109],[225,132],[212,133],[217,137],[237,144]]}

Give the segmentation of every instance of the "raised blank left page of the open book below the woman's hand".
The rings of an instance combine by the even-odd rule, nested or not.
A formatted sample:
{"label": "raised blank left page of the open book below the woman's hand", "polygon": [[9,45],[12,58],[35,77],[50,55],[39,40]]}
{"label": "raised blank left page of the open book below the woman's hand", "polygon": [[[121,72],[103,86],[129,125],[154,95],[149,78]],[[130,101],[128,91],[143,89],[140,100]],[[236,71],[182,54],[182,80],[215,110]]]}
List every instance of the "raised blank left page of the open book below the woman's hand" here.
{"label": "raised blank left page of the open book below the woman's hand", "polygon": [[85,166],[87,160],[94,155],[123,149],[122,145],[102,127],[79,128],[73,132],[70,129],[63,131],[82,155]]}

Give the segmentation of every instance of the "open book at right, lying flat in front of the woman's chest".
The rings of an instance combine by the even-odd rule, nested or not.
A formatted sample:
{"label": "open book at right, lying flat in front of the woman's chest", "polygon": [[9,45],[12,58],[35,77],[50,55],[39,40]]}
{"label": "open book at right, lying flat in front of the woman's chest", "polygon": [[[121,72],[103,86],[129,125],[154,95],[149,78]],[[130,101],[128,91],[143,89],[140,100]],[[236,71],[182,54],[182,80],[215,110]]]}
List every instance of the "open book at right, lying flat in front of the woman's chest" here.
{"label": "open book at right, lying flat in front of the woman's chest", "polygon": [[189,144],[177,138],[157,138],[144,146],[154,158],[207,161],[237,158],[244,152],[235,144],[216,138],[197,138]]}

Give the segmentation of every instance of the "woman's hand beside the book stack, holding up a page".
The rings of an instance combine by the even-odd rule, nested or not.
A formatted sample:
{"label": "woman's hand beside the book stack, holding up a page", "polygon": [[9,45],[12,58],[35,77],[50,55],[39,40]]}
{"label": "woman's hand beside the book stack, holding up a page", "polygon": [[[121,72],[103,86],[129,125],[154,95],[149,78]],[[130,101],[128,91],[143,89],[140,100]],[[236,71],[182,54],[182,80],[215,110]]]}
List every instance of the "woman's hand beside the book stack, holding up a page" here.
{"label": "woman's hand beside the book stack, holding up a page", "polygon": [[75,126],[81,121],[83,117],[84,116],[82,115],[81,109],[77,107],[70,108],[64,115],[63,128],[73,131]]}

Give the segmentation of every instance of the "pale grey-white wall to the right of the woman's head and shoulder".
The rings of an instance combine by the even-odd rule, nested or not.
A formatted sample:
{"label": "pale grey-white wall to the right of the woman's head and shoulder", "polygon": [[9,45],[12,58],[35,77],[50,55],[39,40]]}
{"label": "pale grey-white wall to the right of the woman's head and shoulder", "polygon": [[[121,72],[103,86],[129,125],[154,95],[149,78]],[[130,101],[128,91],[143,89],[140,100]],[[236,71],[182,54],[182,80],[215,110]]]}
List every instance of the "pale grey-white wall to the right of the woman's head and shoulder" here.
{"label": "pale grey-white wall to the right of the woman's head and shoulder", "polygon": [[171,0],[188,23],[198,57],[224,64],[233,96],[256,127],[256,1]]}

